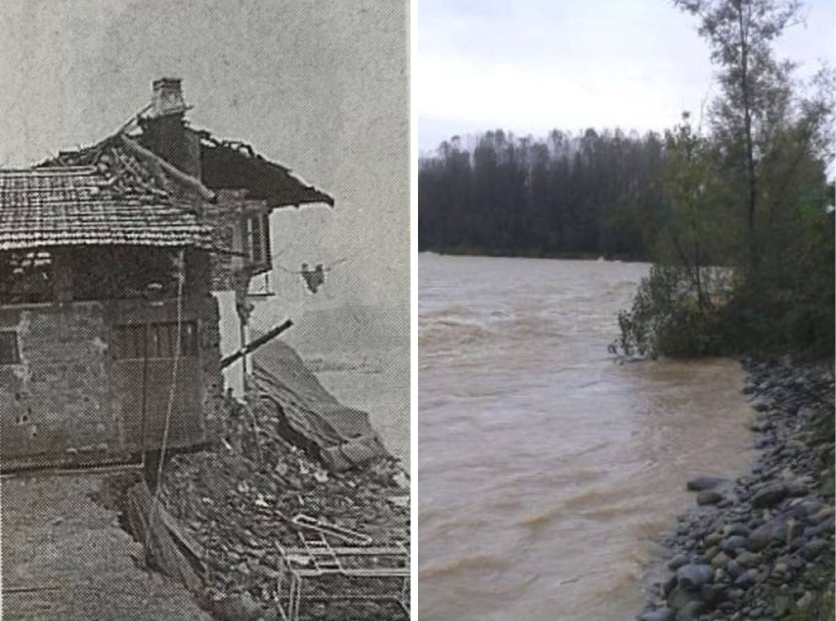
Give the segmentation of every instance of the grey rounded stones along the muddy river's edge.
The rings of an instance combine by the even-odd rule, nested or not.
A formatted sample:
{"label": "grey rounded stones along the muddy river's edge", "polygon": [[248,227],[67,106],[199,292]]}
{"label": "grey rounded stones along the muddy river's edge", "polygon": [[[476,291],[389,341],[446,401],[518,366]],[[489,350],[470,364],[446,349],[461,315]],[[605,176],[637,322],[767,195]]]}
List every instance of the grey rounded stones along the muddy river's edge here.
{"label": "grey rounded stones along the muddy river's edge", "polygon": [[669,578],[639,621],[833,619],[833,375],[743,364],[757,463],[687,481],[695,506],[661,537]]}

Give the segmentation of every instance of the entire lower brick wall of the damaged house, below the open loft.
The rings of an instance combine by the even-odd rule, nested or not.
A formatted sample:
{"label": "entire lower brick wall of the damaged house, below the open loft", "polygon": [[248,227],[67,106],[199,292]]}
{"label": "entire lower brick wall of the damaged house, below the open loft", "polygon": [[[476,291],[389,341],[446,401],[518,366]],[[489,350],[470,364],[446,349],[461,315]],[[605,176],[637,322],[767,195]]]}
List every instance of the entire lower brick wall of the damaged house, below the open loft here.
{"label": "entire lower brick wall of the damaged house, below the open loft", "polygon": [[[180,365],[184,385],[176,393],[172,445],[205,440],[205,418],[217,414],[223,397],[217,302],[208,294],[187,298],[184,315],[197,324],[199,358],[191,368]],[[3,467],[108,461],[138,450],[143,363],[115,360],[116,326],[175,319],[174,300],[154,308],[145,300],[0,308],[0,330],[16,332],[20,350],[19,364],[0,364]],[[151,365],[149,428],[159,429],[165,418],[173,369],[167,364]]]}

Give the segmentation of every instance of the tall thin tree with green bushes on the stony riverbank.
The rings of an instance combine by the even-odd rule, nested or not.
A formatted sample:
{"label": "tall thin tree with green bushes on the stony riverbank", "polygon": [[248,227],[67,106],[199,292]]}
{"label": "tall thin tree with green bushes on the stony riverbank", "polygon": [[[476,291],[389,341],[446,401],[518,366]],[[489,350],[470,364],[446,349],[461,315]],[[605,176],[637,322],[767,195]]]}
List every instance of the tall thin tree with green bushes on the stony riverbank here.
{"label": "tall thin tree with green bushes on the stony riverbank", "polygon": [[[793,64],[772,59],[798,3],[674,3],[700,16],[723,90],[705,139],[687,124],[666,134],[658,186],[668,216],[613,349],[832,358],[833,72],[804,94]],[[726,277],[720,287],[706,287],[712,264]]]}

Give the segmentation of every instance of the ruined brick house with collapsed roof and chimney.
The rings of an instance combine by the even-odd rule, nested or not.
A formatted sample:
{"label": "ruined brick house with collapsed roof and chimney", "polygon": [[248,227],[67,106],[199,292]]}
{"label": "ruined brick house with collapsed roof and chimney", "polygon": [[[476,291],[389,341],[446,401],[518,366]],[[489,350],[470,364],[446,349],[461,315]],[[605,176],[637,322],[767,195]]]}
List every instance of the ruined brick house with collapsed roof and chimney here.
{"label": "ruined brick house with collapsed roof and chimney", "polygon": [[[269,216],[334,200],[186,120],[179,79],[98,144],[0,171],[0,463],[103,463],[206,440],[217,298],[246,334]],[[339,441],[335,440],[335,441]]]}

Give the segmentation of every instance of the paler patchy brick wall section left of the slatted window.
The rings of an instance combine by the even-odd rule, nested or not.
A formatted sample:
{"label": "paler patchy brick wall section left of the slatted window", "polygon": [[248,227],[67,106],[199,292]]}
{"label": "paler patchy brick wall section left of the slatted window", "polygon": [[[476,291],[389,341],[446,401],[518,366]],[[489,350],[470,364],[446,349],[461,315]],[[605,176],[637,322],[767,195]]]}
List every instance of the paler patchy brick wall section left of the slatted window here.
{"label": "paler patchy brick wall section left of the slatted window", "polygon": [[106,452],[120,430],[109,405],[110,338],[98,303],[0,311],[20,364],[0,366],[0,456]]}

